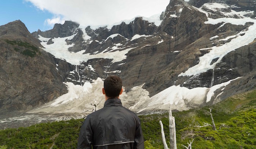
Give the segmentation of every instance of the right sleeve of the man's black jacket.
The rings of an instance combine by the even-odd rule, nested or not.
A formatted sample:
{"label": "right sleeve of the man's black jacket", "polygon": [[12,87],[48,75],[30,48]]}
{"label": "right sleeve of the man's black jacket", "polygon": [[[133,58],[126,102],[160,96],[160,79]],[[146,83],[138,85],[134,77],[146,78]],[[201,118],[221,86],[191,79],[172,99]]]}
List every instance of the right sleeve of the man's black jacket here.
{"label": "right sleeve of the man's black jacket", "polygon": [[139,125],[135,131],[135,139],[134,139],[134,146],[133,149],[144,149],[144,138],[142,135],[142,129],[139,119]]}

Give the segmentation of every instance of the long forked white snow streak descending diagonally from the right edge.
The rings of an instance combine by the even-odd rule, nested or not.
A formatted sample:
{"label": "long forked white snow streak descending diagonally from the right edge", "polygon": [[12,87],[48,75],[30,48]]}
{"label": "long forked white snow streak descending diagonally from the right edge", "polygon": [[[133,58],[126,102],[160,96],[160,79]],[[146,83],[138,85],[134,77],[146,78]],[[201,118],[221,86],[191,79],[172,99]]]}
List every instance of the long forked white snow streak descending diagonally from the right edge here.
{"label": "long forked white snow streak descending diagonally from the right edge", "polygon": [[[236,50],[242,46],[248,45],[249,43],[253,42],[254,38],[256,38],[256,20],[252,18],[217,18],[212,19],[208,18],[208,21],[204,22],[206,24],[218,24],[218,23],[231,23],[233,25],[245,25],[247,22],[253,22],[254,24],[248,27],[248,30],[241,31],[239,35],[236,35],[236,38],[233,38],[230,42],[225,43],[222,46],[214,46],[209,53],[204,54],[202,57],[199,58],[199,63],[191,68],[189,68],[184,73],[182,72],[179,76],[191,76],[196,75],[202,72],[206,72],[209,69],[214,69],[215,65],[221,61],[221,59],[231,51]],[[240,34],[243,34],[241,36]],[[233,36],[232,36],[233,37]],[[204,50],[204,49],[200,49]],[[211,65],[211,62],[214,58],[219,58],[215,63]]]}

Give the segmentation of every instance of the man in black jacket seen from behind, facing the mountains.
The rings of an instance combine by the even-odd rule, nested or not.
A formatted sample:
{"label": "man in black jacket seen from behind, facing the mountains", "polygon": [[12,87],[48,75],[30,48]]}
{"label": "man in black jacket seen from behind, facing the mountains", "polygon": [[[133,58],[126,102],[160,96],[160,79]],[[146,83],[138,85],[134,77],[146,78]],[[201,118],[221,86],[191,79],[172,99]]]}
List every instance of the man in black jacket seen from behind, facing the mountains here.
{"label": "man in black jacket seen from behind, facing the mountains", "polygon": [[82,124],[77,149],[144,149],[140,119],[122,106],[122,80],[107,77],[104,108],[89,114]]}

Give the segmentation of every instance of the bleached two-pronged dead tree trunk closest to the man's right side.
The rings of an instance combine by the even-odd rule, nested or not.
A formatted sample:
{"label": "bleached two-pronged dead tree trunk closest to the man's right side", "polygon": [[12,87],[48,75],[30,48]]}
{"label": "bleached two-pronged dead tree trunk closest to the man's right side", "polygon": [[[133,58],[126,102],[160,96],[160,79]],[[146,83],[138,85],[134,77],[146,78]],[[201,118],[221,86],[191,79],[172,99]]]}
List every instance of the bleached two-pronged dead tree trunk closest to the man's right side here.
{"label": "bleached two-pronged dead tree trunk closest to the man's right side", "polygon": [[[161,126],[161,132],[162,132],[162,139],[163,139],[164,149],[168,149],[167,143],[165,141],[165,134],[163,132],[162,121],[159,121],[159,123],[160,123],[160,126]],[[172,115],[171,106],[169,108],[169,131],[170,131],[170,149],[177,149],[176,130],[175,130],[175,118]]]}

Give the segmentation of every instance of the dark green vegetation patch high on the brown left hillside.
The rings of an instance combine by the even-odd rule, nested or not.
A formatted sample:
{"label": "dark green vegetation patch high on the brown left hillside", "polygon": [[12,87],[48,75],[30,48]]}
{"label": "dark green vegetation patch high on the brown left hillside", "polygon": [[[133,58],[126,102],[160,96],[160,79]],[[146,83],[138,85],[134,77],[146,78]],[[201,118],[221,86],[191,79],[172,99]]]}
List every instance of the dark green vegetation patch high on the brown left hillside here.
{"label": "dark green vegetation patch high on the brown left hillside", "polygon": [[[36,53],[39,52],[38,48],[35,46],[27,43],[27,42],[22,42],[22,41],[10,41],[10,40],[5,40],[6,43],[15,46],[14,50],[15,51],[21,51],[20,48],[17,47],[24,47],[25,50],[21,51],[20,53],[29,57],[35,57]],[[40,52],[39,52],[40,53]]]}

